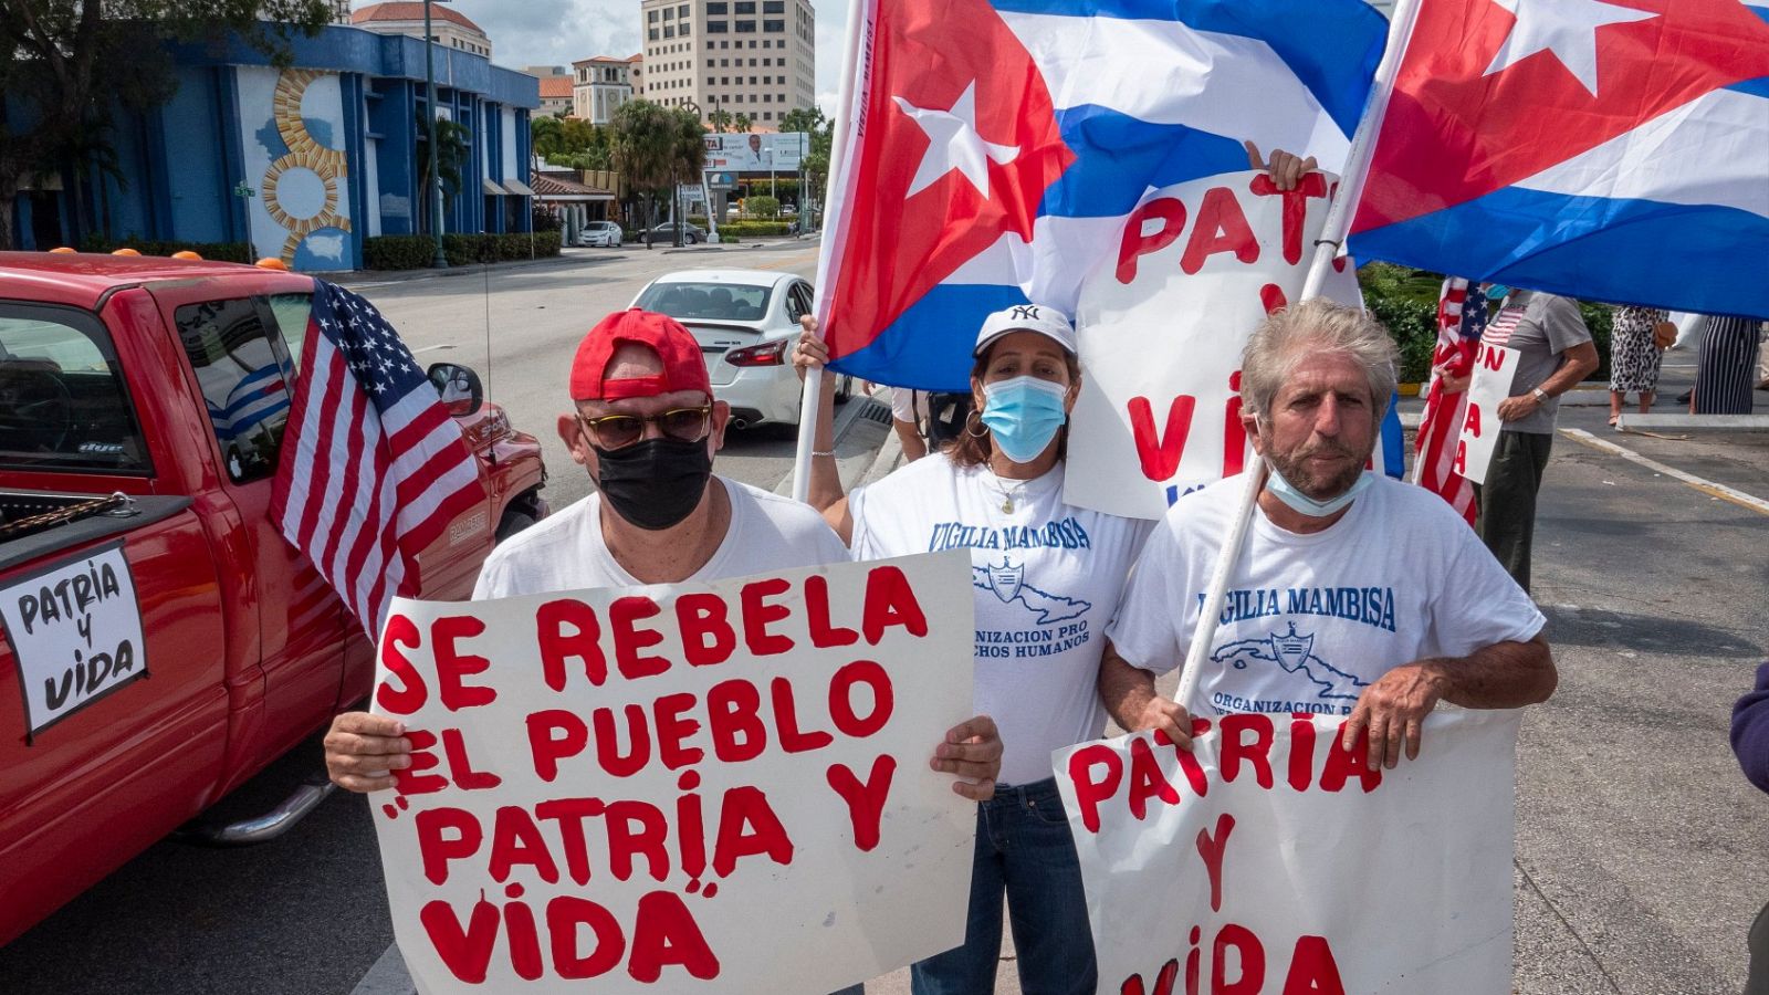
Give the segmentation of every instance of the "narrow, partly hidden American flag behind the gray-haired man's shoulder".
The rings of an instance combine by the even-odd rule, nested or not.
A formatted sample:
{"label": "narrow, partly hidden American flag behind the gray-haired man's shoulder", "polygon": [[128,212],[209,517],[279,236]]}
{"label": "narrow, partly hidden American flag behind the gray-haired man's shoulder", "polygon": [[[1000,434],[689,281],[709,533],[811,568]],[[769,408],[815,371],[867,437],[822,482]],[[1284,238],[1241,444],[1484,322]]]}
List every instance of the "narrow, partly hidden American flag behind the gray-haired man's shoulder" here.
{"label": "narrow, partly hidden American flag behind the gray-haired man's shoulder", "polygon": [[[1413,482],[1435,490],[1474,524],[1474,483],[1458,474],[1456,441],[1468,416],[1468,391],[1445,391],[1444,374],[1467,377],[1474,372],[1474,352],[1486,328],[1486,294],[1479,287],[1468,292],[1461,276],[1444,280],[1438,297],[1438,343],[1431,352],[1431,386],[1426,390],[1426,413],[1413,441]],[[1440,374],[1442,370],[1442,374]]]}

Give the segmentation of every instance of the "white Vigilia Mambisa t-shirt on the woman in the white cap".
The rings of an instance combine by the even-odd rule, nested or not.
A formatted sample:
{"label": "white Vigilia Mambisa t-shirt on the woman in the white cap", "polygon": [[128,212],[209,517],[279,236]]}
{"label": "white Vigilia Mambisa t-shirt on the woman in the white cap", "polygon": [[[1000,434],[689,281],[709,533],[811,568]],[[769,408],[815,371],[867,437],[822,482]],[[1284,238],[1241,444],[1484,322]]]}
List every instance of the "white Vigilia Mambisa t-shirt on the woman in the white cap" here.
{"label": "white Vigilia Mambisa t-shirt on the woman in the white cap", "polygon": [[[1014,510],[1001,506],[1012,496]],[[1037,480],[916,460],[847,498],[856,559],[969,547],[976,595],[973,705],[1001,729],[1001,781],[1051,777],[1051,751],[1097,738],[1100,627],[1153,522],[1063,503],[1063,467]]]}

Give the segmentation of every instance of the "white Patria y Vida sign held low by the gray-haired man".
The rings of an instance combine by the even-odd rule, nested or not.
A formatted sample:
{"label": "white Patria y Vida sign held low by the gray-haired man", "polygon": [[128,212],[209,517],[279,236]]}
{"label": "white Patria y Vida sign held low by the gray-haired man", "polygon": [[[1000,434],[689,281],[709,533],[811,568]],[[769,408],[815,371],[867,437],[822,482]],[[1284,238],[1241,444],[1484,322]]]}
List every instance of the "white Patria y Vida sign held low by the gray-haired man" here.
{"label": "white Patria y Vida sign held low by the gray-haired man", "polygon": [[1309,715],[1058,751],[1100,995],[1509,991],[1520,717],[1436,712],[1394,770]]}

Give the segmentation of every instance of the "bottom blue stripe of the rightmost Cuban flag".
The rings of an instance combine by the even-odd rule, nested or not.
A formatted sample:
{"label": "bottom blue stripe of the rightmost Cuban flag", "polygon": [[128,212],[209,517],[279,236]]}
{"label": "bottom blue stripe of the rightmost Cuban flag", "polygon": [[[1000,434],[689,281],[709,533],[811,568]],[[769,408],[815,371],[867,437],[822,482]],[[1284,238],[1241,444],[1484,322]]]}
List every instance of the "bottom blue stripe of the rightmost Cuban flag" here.
{"label": "bottom blue stripe of the rightmost Cuban flag", "polygon": [[1711,204],[1505,188],[1352,235],[1387,260],[1615,305],[1769,317],[1769,218]]}

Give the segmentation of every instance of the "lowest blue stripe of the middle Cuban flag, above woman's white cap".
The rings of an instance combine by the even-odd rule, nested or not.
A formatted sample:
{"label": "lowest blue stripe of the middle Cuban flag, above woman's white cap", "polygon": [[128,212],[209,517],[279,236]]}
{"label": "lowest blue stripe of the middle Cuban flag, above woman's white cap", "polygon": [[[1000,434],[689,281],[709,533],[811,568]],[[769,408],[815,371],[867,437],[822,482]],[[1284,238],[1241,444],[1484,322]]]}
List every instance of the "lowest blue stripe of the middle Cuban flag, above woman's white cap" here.
{"label": "lowest blue stripe of the middle Cuban flag, above woman's white cap", "polygon": [[830,363],[830,368],[893,388],[968,391],[976,326],[989,313],[1024,303],[1026,294],[1019,287],[941,283],[890,322],[870,345]]}

